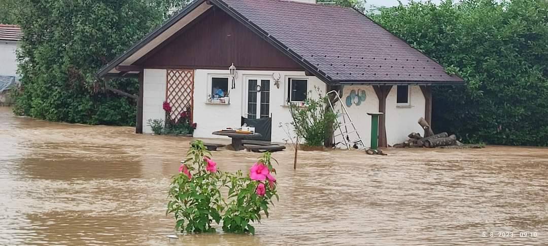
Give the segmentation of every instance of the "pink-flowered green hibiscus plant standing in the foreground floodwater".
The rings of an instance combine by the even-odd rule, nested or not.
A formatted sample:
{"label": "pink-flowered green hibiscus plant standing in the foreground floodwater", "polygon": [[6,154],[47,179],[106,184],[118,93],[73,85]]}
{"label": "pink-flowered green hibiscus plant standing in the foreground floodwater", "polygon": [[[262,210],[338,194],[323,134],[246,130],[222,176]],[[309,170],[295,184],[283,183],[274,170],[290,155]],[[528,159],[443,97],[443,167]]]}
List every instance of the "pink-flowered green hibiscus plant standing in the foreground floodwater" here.
{"label": "pink-flowered green hibiscus plant standing in the foreground floodwater", "polygon": [[[249,175],[221,172],[203,142],[192,142],[168,193],[167,214],[174,215],[175,230],[214,232],[213,222],[222,221],[225,232],[254,234],[251,223],[260,222],[261,212],[268,216],[272,197],[278,198],[271,160],[265,153]],[[221,195],[222,188],[228,190],[226,196]]]}

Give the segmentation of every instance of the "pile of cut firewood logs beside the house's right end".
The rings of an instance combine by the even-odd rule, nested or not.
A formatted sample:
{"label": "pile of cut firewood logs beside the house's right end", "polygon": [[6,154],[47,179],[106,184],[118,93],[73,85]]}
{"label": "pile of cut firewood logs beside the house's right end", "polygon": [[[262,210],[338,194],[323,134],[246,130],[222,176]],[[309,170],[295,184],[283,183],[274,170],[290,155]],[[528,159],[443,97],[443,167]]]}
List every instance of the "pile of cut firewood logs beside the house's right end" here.
{"label": "pile of cut firewood logs beside the house's right end", "polygon": [[459,141],[456,140],[456,136],[447,134],[447,132],[442,132],[434,134],[432,128],[426,122],[424,118],[419,119],[419,125],[423,127],[425,136],[421,136],[420,133],[412,132],[408,135],[409,139],[403,143],[394,144],[395,148],[434,148],[442,146],[451,146],[451,145],[461,145]]}

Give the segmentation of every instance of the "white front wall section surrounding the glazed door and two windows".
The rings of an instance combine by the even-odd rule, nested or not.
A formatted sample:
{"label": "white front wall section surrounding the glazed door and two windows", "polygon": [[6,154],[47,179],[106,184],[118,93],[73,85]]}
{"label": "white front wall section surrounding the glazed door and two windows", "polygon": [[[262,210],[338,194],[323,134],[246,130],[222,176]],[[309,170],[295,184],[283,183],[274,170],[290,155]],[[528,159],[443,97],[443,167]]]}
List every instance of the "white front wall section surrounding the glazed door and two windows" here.
{"label": "white front wall section surrounding the glazed door and two windows", "polygon": [[[314,86],[319,87],[323,93],[326,91],[326,84],[316,77],[306,76],[304,72],[291,71],[238,71],[238,77],[235,79],[236,89],[230,90],[230,104],[207,104],[207,96],[210,91],[209,77],[225,76],[226,70],[211,70],[211,69],[196,69],[194,81],[194,121],[197,123],[194,137],[196,138],[222,138],[223,136],[215,136],[211,133],[219,131],[226,127],[239,127],[241,125],[241,116],[247,116],[247,100],[244,98],[244,90],[247,89],[247,78],[266,78],[272,79],[272,73],[281,75],[279,89],[274,85],[273,80],[270,84],[270,113],[272,114],[272,142],[283,143],[287,138],[286,133],[279,124],[292,122],[289,108],[285,105],[287,98],[287,83],[288,78],[307,78],[309,79],[309,90]],[[229,81],[231,84],[231,81]],[[312,92],[313,97],[317,97],[317,93]]]}

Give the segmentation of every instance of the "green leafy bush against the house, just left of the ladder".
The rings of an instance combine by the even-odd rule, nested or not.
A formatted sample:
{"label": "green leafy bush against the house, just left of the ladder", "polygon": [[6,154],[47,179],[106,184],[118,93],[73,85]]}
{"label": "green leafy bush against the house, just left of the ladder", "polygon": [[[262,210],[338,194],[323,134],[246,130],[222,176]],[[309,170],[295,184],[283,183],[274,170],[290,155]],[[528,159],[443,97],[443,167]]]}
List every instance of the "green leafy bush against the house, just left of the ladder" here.
{"label": "green leafy bush against the house, just left of the ladder", "polygon": [[330,128],[335,128],[336,114],[328,107],[329,99],[316,88],[318,99],[307,98],[303,106],[289,104],[295,134],[305,145],[323,146]]}

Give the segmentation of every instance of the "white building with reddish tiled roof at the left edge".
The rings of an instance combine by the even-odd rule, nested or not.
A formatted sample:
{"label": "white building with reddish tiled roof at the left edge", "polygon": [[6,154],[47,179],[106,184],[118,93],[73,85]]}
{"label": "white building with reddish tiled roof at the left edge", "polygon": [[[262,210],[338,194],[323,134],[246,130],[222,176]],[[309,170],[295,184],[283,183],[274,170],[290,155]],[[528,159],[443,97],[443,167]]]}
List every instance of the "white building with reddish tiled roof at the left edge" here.
{"label": "white building with reddish tiled roof at the left edge", "polygon": [[16,84],[17,56],[15,50],[21,40],[21,28],[0,24],[0,106],[12,103],[9,90]]}

